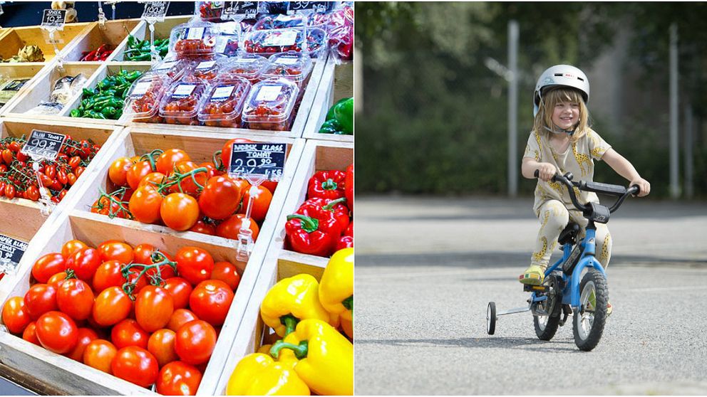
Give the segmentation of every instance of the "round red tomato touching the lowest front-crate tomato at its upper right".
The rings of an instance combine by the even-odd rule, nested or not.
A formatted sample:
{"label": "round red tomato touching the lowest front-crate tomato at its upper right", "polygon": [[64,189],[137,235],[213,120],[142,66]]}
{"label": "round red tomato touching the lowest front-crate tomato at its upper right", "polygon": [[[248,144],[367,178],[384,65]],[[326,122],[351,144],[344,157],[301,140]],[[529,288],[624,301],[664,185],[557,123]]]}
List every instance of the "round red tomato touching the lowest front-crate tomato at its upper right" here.
{"label": "round red tomato touching the lowest front-crate tomato at its upper right", "polygon": [[175,351],[187,364],[198,365],[209,361],[216,346],[216,330],[203,320],[193,320],[177,331]]}

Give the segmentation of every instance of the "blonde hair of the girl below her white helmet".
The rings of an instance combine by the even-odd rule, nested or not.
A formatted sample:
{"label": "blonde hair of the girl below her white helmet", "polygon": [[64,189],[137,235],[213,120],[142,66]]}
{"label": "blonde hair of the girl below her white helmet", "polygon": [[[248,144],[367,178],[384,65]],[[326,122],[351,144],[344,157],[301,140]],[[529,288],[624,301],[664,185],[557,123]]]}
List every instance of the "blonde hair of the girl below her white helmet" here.
{"label": "blonde hair of the girl below her white helmet", "polygon": [[589,110],[584,104],[582,94],[573,88],[555,88],[542,95],[540,107],[532,126],[533,132],[550,134],[551,132],[547,131],[545,127],[557,129],[552,122],[552,112],[559,102],[579,103],[579,122],[574,126],[574,134],[569,137],[572,142],[577,142],[589,131]]}

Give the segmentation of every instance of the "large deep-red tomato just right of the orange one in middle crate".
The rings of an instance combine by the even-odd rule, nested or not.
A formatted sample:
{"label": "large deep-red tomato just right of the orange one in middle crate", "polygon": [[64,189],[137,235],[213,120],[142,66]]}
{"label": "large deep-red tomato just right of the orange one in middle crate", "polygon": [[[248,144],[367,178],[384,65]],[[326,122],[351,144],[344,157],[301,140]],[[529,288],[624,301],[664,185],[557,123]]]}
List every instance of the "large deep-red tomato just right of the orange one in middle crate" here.
{"label": "large deep-red tomato just right of the orange one in middle crate", "polygon": [[199,208],[212,219],[225,219],[231,216],[241,201],[242,189],[228,176],[214,176],[204,186],[199,196]]}

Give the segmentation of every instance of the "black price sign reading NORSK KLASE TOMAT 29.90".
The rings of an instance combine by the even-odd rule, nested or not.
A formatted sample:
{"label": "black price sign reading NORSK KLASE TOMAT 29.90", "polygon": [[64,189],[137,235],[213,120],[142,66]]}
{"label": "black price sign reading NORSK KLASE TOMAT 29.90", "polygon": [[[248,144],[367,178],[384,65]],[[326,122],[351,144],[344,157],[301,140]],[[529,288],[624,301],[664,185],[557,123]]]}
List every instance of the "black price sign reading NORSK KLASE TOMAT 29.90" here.
{"label": "black price sign reading NORSK KLASE TOMAT 29.90", "polygon": [[233,144],[228,174],[232,178],[262,175],[271,181],[282,178],[285,165],[285,144]]}

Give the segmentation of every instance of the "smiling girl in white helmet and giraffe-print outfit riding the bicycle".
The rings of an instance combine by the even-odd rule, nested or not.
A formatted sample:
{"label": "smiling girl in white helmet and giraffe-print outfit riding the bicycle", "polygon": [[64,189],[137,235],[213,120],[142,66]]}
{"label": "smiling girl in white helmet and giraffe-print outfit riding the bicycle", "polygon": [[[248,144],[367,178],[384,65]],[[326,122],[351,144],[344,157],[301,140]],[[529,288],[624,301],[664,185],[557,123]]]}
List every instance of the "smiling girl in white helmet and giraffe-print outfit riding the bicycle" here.
{"label": "smiling girl in white helmet and giraffe-print outfit riding the bicycle", "polygon": [[[592,181],[594,160],[603,160],[617,174],[638,185],[638,196],[651,192],[651,184],[641,178],[633,165],[611,145],[589,128],[589,80],[582,70],[569,65],[555,65],[545,70],[537,80],[533,95],[535,122],[523,155],[521,171],[527,179],[535,179],[533,211],[540,221],[535,250],[530,267],[519,280],[523,284],[540,285],[552,251],[557,247],[559,233],[570,220],[584,228],[587,219],[570,201],[567,190],[552,182],[554,174],[572,172],[584,181]],[[599,203],[597,194],[574,188],[580,203]],[[611,235],[606,224],[597,223],[597,260],[604,268],[611,259]],[[611,312],[611,305],[608,307]]]}

